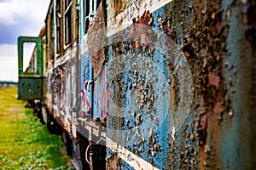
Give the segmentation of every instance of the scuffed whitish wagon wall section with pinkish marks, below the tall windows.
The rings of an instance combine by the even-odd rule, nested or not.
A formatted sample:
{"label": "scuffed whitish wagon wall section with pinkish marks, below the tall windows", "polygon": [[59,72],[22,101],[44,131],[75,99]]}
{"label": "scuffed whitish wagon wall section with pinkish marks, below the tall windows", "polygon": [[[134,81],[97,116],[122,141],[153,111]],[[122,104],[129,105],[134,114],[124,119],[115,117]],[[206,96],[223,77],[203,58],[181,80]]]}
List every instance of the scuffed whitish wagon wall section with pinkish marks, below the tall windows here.
{"label": "scuffed whitish wagon wall section with pinkish marks, below the tall windows", "polygon": [[78,88],[76,59],[69,59],[64,65],[58,66],[53,74],[53,115],[55,119],[76,137],[74,118],[78,112]]}

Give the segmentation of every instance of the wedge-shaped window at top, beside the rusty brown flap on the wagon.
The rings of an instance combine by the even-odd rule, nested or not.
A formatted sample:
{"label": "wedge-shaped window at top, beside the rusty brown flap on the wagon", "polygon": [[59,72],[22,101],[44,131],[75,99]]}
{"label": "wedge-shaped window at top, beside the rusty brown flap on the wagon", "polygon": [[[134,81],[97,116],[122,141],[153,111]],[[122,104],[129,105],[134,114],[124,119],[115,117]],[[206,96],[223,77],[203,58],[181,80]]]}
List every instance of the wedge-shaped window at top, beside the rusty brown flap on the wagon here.
{"label": "wedge-shaped window at top, beside the rusty brown flap on the wagon", "polygon": [[87,34],[90,21],[93,20],[100,3],[101,0],[84,0],[84,34]]}

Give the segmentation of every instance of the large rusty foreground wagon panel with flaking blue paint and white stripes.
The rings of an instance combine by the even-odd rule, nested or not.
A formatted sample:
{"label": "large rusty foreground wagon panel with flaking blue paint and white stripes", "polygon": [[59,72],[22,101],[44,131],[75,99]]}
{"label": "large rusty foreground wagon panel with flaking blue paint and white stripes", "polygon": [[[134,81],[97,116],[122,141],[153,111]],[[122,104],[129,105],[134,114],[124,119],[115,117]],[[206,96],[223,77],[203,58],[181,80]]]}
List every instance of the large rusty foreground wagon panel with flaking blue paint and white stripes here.
{"label": "large rusty foreground wagon panel with flaking blue paint and white stripes", "polygon": [[[117,28],[108,31],[108,166],[252,169],[254,1],[137,3],[145,2],[145,12],[132,15],[133,24],[152,26],[138,31],[141,43],[129,39],[130,25],[121,26],[130,3],[108,7],[108,26]],[[184,86],[189,71],[193,83]],[[179,112],[186,104],[189,111]]]}

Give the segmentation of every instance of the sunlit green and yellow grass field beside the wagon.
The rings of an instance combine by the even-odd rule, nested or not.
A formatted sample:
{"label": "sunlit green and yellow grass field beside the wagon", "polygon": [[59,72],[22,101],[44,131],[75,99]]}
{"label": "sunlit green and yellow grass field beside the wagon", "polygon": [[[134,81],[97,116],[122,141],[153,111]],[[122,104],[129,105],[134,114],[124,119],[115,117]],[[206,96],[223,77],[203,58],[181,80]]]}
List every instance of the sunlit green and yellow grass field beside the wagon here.
{"label": "sunlit green and yellow grass field beside the wagon", "polygon": [[25,109],[17,88],[0,88],[0,169],[73,169],[60,136]]}

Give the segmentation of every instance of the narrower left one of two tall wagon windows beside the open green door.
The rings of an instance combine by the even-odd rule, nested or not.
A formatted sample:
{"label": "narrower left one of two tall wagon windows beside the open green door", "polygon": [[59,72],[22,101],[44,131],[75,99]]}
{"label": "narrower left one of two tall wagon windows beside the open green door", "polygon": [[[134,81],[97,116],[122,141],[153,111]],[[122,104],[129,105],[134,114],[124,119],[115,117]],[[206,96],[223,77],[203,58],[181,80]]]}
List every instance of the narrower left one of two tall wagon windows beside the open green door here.
{"label": "narrower left one of two tall wagon windows beside the open green door", "polygon": [[56,2],[56,53],[61,53],[61,3]]}

